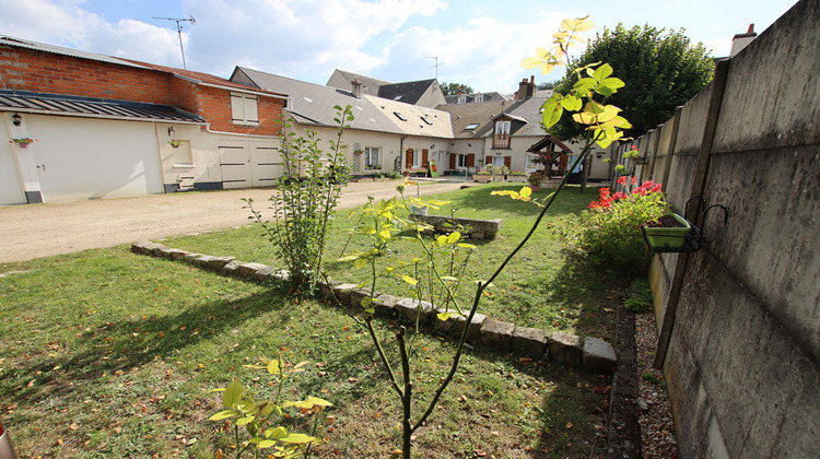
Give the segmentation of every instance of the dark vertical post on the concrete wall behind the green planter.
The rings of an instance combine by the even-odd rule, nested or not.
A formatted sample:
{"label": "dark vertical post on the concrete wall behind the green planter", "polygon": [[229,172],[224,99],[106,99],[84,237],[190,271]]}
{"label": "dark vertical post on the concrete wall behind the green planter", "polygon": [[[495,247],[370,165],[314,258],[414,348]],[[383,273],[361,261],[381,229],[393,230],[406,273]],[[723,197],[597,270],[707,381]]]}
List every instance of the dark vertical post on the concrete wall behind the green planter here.
{"label": "dark vertical post on the concrete wall behind the green planter", "polygon": [[[726,76],[728,75],[728,72],[729,60],[718,60],[717,66],[715,67],[715,78],[712,80],[714,86],[712,90],[712,97],[708,102],[706,126],[703,128],[703,140],[701,142],[701,149],[698,153],[698,165],[694,169],[694,179],[692,180],[692,188],[690,190],[689,198],[693,196],[703,196],[706,190],[706,176],[708,175],[708,166],[712,160],[712,144],[715,140],[715,129],[717,128],[717,120],[721,115],[721,104],[723,102],[724,90],[726,89]],[[693,215],[700,214],[700,200],[692,201],[692,208]],[[689,254],[680,254],[678,256],[677,262],[675,263],[672,284],[669,287],[669,299],[667,301],[666,310],[664,311],[664,319],[660,326],[660,332],[658,333],[658,345],[655,351],[655,362],[653,362],[655,368],[660,369],[664,367],[666,354],[669,351],[669,341],[672,337],[675,316],[678,310],[680,293],[683,289],[683,281],[689,264]]]}

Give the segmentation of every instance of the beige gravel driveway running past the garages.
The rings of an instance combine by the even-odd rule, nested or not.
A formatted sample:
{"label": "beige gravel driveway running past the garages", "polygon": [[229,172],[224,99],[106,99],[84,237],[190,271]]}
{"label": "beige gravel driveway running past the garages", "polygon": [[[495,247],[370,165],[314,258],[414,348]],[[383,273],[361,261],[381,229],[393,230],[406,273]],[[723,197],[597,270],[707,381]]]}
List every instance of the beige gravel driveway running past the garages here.
{"label": "beige gravel driveway running past the garages", "polygon": [[[368,195],[390,198],[398,184],[349,184],[339,208],[364,204]],[[462,185],[435,181],[419,189],[433,195]],[[265,202],[267,209],[271,192],[242,189],[0,207],[0,263],[246,225],[249,213],[241,199]]]}

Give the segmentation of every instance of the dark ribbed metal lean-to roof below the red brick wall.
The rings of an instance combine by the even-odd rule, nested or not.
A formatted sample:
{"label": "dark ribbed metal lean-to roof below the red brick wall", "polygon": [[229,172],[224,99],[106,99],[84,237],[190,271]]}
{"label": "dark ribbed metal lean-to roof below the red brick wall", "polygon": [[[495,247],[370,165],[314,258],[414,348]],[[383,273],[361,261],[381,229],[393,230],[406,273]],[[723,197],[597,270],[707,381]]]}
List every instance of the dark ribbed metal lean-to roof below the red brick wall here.
{"label": "dark ribbed metal lean-to roof below the red brick wall", "polygon": [[204,118],[169,105],[103,98],[49,95],[0,90],[0,110],[87,118],[118,118],[155,121],[204,122]]}

